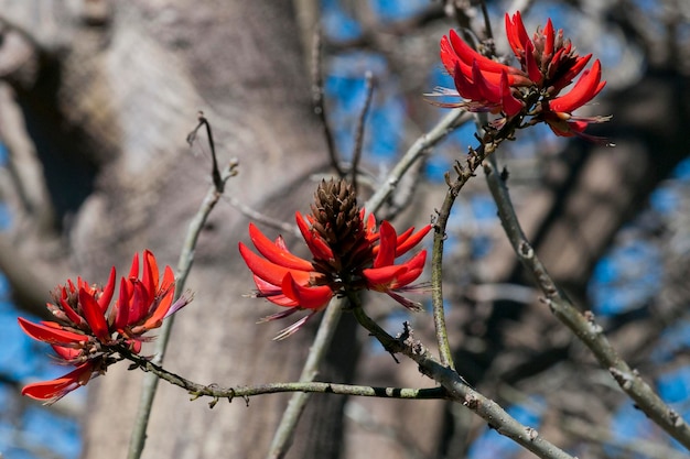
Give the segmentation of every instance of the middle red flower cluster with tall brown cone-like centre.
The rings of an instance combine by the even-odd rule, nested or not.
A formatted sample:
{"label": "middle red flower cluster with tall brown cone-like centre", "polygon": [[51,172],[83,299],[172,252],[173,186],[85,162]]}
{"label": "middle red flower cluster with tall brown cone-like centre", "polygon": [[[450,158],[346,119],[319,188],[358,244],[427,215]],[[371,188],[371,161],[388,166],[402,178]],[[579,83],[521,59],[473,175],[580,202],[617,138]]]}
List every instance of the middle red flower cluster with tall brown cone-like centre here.
{"label": "middle red flower cluster with tall brown cone-like centre", "polygon": [[271,241],[252,223],[249,237],[261,256],[239,243],[239,253],[254,273],[256,296],[289,308],[265,320],[283,318],[300,309],[311,310],[276,339],[299,330],[310,317],[325,308],[333,296],[346,291],[382,292],[407,308],[420,308],[398,292],[420,276],[427,251],[400,264],[395,264],[395,260],[417,245],[431,226],[418,232],[410,228],[398,236],[388,221],[382,221],[376,231],[374,216],[365,221],[365,211],[356,208],[352,193],[344,182],[323,182],[316,193],[317,204],[312,206],[313,214],[306,219],[295,214],[313,261],[292,254],[282,237]]}

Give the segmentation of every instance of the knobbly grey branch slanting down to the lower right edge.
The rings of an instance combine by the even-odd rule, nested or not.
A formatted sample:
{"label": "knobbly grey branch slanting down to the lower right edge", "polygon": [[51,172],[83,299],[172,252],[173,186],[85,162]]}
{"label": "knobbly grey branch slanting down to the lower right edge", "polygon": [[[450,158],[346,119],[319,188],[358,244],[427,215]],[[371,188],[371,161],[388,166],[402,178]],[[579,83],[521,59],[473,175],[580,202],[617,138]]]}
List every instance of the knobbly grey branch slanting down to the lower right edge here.
{"label": "knobbly grey branch slanting down to the lower right edge", "polygon": [[600,364],[608,369],[621,389],[635,401],[636,407],[643,411],[653,422],[686,448],[690,449],[690,426],[686,420],[654,392],[638,374],[618,356],[603,328],[594,320],[590,312],[580,313],[570,299],[559,289],[543,264],[527,240],[510,201],[506,183],[497,173],[495,159],[484,165],[484,173],[489,190],[498,206],[498,217],[513,249],[522,265],[532,273],[537,284],[546,295],[543,302],[553,315],[561,320],[592,351]]}

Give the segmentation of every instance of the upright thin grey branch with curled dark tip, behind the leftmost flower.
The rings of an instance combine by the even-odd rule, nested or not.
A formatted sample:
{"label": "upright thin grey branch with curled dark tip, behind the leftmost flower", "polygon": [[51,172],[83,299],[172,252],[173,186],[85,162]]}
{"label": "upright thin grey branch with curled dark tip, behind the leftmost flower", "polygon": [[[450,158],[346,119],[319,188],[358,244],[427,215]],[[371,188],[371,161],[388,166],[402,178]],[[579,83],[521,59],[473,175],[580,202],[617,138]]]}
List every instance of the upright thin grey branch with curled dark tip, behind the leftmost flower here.
{"label": "upright thin grey branch with curled dark tip, behind the leftmost flower", "polygon": [[[206,124],[208,129],[207,133],[211,133],[211,127],[208,125],[208,121],[206,121],[206,119],[203,118],[203,114],[201,113],[200,124],[196,127],[194,132],[196,132],[196,130],[198,130],[198,128],[203,124]],[[212,152],[214,155],[214,171],[217,172],[217,165],[215,161],[215,146],[213,145],[213,138],[211,136],[211,134],[208,135],[208,141],[211,143]],[[202,201],[197,214],[190,222],[182,252],[180,253],[180,261],[177,263],[177,278],[175,281],[174,294],[175,299],[179,298],[184,291],[186,278],[190,274],[190,271],[192,270],[192,264],[194,262],[194,250],[196,247],[196,241],[198,240],[198,236],[204,227],[204,223],[206,222],[208,215],[215,207],[218,199],[220,199],[225,183],[231,176],[237,174],[237,161],[233,160],[222,173],[218,173],[218,181],[216,181],[214,176],[213,186],[211,186],[208,188],[208,192],[206,192],[206,196],[204,197],[204,200]],[[169,317],[161,327],[161,331],[155,343],[155,357],[152,359],[152,363],[154,364],[160,365],[163,362],[165,348],[168,347],[170,332],[174,323],[173,319],[174,316]],[[138,459],[143,452],[143,446],[147,437],[147,426],[149,424],[149,416],[151,414],[153,398],[155,397],[155,391],[158,389],[158,381],[159,379],[153,374],[149,378],[144,378],[141,398],[139,400],[139,407],[134,417],[134,426],[132,428],[129,440],[129,449],[127,456],[128,459]]]}

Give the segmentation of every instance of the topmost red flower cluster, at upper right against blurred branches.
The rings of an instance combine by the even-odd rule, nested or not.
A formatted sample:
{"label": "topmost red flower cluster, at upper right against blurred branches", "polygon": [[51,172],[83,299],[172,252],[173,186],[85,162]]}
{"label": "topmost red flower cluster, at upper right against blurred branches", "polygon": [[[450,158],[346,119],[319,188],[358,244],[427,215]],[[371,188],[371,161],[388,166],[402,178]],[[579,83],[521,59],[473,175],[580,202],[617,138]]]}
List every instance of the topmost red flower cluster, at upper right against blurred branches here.
{"label": "topmost red flower cluster, at upper right against blurred branches", "polygon": [[[439,105],[503,112],[506,118],[532,116],[533,122],[548,123],[557,135],[594,139],[584,134],[587,124],[610,117],[582,118],[572,112],[592,100],[606,84],[601,80],[599,59],[584,70],[592,55],[578,55],[571,42],[563,39],[563,31],[553,30],[550,19],[531,40],[519,12],[513,18],[506,14],[505,19],[508,42],[520,68],[483,56],[451,31],[441,39],[441,61],[453,76],[456,91],[442,90],[433,96],[460,96],[466,100]],[[560,96],[578,75],[570,92]]]}

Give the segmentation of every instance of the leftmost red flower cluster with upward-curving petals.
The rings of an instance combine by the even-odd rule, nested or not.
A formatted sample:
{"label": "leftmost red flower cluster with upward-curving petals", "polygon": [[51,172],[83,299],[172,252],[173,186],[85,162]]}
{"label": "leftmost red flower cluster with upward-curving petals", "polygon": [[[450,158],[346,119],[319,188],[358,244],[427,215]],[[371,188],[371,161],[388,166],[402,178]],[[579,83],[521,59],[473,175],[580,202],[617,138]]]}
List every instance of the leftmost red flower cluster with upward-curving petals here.
{"label": "leftmost red flower cluster with upward-curving petals", "polygon": [[115,294],[116,271],[105,287],[91,285],[77,277],[53,292],[53,302],[47,308],[55,321],[34,324],[19,317],[19,325],[26,335],[53,347],[58,359],[76,369],[64,376],[26,385],[22,395],[52,404],[86,385],[94,375],[105,373],[118,347],[133,353],[141,351],[143,335],[161,326],[163,319],[190,299],[180,297],[173,303],[175,280],[170,266],[165,266],[159,280],[158,263],[153,253],[143,252],[143,270],[139,274],[139,254],[134,254],[128,277],[120,281],[119,297],[110,306]]}

